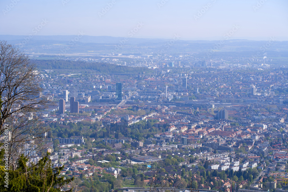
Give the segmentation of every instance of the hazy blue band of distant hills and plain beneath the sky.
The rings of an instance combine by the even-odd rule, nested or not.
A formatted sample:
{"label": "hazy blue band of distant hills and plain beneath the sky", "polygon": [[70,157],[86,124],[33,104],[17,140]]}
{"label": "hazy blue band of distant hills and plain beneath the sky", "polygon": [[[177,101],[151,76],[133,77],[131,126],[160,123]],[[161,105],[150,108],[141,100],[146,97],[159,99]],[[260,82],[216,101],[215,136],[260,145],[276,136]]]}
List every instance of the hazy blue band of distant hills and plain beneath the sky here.
{"label": "hazy blue band of distant hills and plain beneath the sky", "polygon": [[[25,40],[25,39],[26,40]],[[76,39],[72,43],[71,40]],[[196,57],[287,57],[288,41],[251,41],[228,39],[222,41],[145,39],[110,36],[84,35],[78,39],[76,35],[33,36],[31,39],[23,35],[0,35],[0,40],[19,47],[25,53],[63,55],[63,53],[86,53],[91,56],[107,55],[108,53],[139,53],[139,54],[197,54]],[[21,43],[24,42],[22,46]]]}

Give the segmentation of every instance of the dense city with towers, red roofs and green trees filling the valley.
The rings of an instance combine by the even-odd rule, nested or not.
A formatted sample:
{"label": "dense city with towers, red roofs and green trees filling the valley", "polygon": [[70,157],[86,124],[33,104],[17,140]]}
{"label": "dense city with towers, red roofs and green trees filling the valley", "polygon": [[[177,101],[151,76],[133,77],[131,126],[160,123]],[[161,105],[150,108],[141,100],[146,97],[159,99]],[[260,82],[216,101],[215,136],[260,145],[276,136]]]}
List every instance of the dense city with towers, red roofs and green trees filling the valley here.
{"label": "dense city with towers, red roofs and green trees filling the valley", "polygon": [[[49,127],[44,149],[53,166],[75,178],[64,189],[281,192],[288,160],[287,72],[281,66],[260,59],[236,65],[228,59],[192,63],[190,56],[143,58],[158,62],[139,68],[117,59],[110,64],[115,72],[101,63],[94,63],[103,66],[98,71],[35,71],[39,97],[54,105],[31,118]],[[192,65],[182,65],[187,61]],[[37,62],[51,67],[49,60]],[[29,162],[43,155],[37,149],[31,141],[22,149]]]}

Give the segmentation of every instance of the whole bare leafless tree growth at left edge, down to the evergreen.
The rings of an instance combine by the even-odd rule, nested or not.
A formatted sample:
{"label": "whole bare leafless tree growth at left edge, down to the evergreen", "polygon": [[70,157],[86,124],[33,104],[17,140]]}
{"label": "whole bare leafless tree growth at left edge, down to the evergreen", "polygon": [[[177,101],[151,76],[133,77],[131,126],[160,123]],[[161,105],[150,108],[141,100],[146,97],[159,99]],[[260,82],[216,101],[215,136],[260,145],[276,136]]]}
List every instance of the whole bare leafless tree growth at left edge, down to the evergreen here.
{"label": "whole bare leafless tree growth at left edge, down to the evergreen", "polygon": [[41,96],[35,64],[6,41],[0,41],[0,83],[0,135],[4,123],[9,124],[9,164],[13,165],[21,153],[31,156],[43,149],[48,128],[38,118],[49,101]]}

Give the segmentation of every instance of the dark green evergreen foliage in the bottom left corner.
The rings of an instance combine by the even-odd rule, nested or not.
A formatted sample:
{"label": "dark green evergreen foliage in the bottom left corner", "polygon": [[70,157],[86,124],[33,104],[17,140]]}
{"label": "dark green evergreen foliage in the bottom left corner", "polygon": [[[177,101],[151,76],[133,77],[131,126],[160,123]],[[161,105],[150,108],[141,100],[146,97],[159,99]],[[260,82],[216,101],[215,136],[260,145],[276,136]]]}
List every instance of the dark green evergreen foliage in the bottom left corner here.
{"label": "dark green evergreen foliage in the bottom left corner", "polygon": [[[1,150],[1,160],[4,159],[3,155],[3,150]],[[37,164],[32,163],[31,165],[28,162],[28,158],[21,155],[18,159],[15,170],[13,170],[12,167],[10,167],[9,170],[4,170],[4,161],[2,161],[0,170],[1,191],[61,191],[61,187],[73,181],[74,178],[65,180],[63,176],[60,177],[60,171],[64,168],[64,166],[52,168],[53,164],[48,157],[49,155],[50,154],[48,153],[45,157],[40,159]],[[8,188],[4,187],[5,172],[8,172],[9,175]],[[72,189],[70,191],[72,191]]]}

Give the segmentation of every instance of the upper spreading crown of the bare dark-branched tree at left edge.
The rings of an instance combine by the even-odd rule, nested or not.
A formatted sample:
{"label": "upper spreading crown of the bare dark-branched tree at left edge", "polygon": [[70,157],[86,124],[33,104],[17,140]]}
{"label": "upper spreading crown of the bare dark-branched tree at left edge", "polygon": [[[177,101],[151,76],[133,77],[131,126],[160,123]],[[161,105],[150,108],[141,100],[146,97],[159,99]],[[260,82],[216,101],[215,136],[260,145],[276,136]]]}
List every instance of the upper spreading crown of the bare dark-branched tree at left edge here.
{"label": "upper spreading crown of the bare dark-branched tree at left edge", "polygon": [[13,113],[24,115],[43,110],[47,98],[40,97],[38,73],[35,64],[14,46],[0,41],[0,134],[3,124]]}

